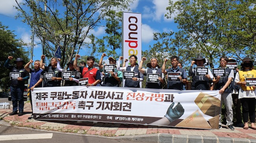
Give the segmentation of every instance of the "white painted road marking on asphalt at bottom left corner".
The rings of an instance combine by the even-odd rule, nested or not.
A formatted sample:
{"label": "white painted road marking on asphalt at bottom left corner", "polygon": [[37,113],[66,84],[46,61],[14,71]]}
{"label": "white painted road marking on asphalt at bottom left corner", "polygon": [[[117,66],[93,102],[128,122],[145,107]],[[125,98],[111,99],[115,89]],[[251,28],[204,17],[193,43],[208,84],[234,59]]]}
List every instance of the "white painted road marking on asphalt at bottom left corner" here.
{"label": "white painted road marking on asphalt at bottom left corner", "polygon": [[21,140],[21,139],[51,139],[52,133],[49,134],[13,134],[1,135],[0,141]]}

